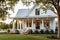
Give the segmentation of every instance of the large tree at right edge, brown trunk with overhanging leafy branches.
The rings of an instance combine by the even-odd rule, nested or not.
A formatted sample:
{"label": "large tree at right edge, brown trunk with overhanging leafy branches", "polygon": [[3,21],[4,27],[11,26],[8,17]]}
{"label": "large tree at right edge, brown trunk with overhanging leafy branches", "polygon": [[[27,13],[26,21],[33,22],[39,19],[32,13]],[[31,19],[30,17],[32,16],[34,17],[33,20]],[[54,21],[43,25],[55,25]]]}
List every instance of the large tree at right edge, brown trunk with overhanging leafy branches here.
{"label": "large tree at right edge, brown trunk with overhanging leafy branches", "polygon": [[[46,6],[49,4],[52,4],[56,10],[57,10],[57,16],[58,16],[58,38],[60,38],[60,0],[35,0],[35,1],[31,1],[31,0],[21,0],[23,4],[27,4],[29,5],[31,2],[36,3],[37,5],[40,5],[41,3],[43,4],[42,8],[43,10],[47,10],[48,8],[53,10],[52,6]],[[45,6],[45,7],[44,7]]]}

